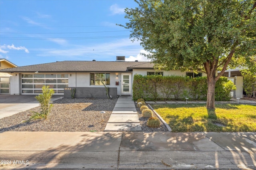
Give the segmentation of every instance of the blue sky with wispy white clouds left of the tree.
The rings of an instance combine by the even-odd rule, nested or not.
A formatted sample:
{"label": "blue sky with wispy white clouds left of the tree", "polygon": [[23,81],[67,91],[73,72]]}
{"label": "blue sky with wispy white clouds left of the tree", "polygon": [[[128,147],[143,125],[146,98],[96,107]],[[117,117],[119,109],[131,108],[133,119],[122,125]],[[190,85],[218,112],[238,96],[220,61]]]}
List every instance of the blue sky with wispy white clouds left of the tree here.
{"label": "blue sky with wispy white clouds left of the tree", "polygon": [[18,65],[56,61],[147,61],[117,26],[133,0],[0,0],[0,58]]}

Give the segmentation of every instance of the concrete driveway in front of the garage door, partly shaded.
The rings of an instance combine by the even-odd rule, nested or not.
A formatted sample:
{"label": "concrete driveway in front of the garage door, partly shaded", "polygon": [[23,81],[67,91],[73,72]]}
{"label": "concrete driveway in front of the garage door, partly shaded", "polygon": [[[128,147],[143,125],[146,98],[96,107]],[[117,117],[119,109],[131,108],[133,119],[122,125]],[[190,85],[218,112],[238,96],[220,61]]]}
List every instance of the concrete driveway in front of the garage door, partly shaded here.
{"label": "concrete driveway in front of the garage door, partly shaded", "polygon": [[[0,95],[0,119],[39,106],[36,95]],[[63,95],[52,96],[52,101]]]}

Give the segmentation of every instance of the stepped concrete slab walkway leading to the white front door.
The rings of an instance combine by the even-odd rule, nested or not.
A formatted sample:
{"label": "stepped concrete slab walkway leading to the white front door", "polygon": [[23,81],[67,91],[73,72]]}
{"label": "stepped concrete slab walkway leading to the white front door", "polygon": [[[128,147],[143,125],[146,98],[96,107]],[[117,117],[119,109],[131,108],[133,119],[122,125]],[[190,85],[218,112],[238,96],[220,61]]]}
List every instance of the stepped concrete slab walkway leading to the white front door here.
{"label": "stepped concrete slab walkway leading to the white front door", "polygon": [[120,96],[104,131],[142,131],[132,96]]}

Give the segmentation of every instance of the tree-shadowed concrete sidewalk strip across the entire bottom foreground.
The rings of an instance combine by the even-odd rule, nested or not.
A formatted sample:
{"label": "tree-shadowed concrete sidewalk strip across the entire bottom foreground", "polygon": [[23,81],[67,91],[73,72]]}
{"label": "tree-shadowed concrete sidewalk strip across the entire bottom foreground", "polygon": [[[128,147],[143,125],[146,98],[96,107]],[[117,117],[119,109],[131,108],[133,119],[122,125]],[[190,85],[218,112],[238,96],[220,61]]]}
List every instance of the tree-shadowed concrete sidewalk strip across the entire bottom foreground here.
{"label": "tree-shadowed concrete sidewalk strip across the entire bottom foreground", "polygon": [[254,170],[256,133],[7,131],[0,160],[5,170]]}

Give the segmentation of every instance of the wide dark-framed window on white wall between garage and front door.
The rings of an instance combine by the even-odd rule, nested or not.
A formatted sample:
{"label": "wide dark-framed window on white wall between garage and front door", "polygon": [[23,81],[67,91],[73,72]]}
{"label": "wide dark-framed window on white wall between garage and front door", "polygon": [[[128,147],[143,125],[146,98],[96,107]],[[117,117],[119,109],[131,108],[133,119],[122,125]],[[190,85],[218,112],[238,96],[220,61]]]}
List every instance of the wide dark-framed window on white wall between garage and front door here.
{"label": "wide dark-framed window on white wall between garage and front door", "polygon": [[90,85],[110,85],[110,73],[90,73]]}

